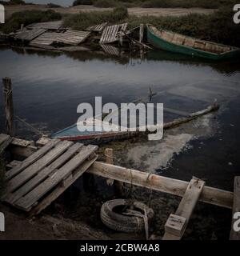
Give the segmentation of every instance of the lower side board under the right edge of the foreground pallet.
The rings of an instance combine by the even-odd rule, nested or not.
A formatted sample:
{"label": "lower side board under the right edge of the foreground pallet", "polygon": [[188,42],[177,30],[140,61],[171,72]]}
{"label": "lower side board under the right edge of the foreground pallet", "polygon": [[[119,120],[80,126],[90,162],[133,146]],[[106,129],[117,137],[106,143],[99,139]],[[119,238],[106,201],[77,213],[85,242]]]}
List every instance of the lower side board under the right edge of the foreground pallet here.
{"label": "lower side board under the right edge of the foreground pallet", "polygon": [[46,198],[42,199],[41,202],[38,203],[31,211],[30,215],[39,214],[42,210],[44,210],[47,206],[50,205],[60,194],[62,194],[70,185],[72,185],[89,167],[97,160],[98,156],[94,157],[91,160],[88,160],[82,163],[81,166],[74,172],[74,174],[70,175],[70,178],[67,178],[63,183],[64,186],[57,186],[56,189],[51,192]]}

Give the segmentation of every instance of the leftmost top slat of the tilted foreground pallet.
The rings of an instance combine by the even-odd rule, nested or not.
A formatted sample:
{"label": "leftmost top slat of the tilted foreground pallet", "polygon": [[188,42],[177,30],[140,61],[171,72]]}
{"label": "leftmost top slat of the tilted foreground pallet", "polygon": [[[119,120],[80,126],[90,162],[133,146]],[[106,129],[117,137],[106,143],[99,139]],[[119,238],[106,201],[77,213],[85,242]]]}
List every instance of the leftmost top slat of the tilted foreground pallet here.
{"label": "leftmost top slat of the tilted foreground pallet", "polygon": [[31,154],[28,158],[22,161],[20,166],[14,167],[12,170],[9,170],[6,173],[6,180],[13,178],[15,175],[19,174],[22,170],[26,169],[26,167],[30,166],[33,162],[36,162],[39,158],[42,158],[44,154],[46,154],[49,150],[51,150],[57,143],[60,142],[59,139],[53,139],[43,146],[40,150]]}

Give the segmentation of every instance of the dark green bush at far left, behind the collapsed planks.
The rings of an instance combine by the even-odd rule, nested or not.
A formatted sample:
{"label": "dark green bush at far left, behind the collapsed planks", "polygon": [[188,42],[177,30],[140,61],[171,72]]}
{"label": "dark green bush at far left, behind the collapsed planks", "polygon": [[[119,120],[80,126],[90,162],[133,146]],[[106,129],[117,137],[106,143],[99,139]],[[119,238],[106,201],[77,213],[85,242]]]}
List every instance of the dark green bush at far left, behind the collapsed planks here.
{"label": "dark green bush at far left, behind the collapsed planks", "polygon": [[2,25],[4,33],[10,33],[18,30],[21,24],[24,26],[30,25],[34,22],[51,22],[62,18],[61,14],[54,12],[54,10],[25,10],[14,13],[6,23]]}

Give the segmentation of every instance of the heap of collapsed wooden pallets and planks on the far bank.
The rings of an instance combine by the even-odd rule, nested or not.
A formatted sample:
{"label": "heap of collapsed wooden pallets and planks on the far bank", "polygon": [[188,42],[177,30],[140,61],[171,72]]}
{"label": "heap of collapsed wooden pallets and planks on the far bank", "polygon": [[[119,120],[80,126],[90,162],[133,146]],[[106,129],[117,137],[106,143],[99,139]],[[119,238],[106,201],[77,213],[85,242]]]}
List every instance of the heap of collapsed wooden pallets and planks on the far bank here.
{"label": "heap of collapsed wooden pallets and planks on the far bank", "polygon": [[121,55],[120,48],[125,50],[150,48],[142,42],[143,24],[130,30],[127,26],[128,23],[108,25],[107,22],[103,22],[79,31],[64,27],[62,21],[40,22],[26,27],[22,25],[21,29],[14,34],[14,40],[24,45],[59,50],[64,46],[78,46],[87,39],[87,42],[91,43],[90,46],[96,43],[106,54],[115,56]]}

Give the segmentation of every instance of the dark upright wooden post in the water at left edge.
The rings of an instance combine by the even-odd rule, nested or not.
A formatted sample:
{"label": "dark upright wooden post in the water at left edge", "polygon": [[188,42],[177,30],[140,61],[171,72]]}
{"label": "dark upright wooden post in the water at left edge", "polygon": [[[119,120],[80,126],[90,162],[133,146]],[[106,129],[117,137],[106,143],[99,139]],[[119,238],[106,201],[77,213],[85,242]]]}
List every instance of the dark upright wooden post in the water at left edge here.
{"label": "dark upright wooden post in the water at left edge", "polygon": [[6,133],[14,136],[14,103],[12,82],[10,78],[3,78],[3,94],[5,99],[5,114],[6,114]]}

